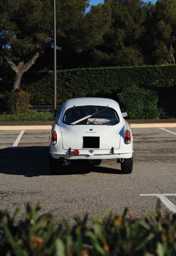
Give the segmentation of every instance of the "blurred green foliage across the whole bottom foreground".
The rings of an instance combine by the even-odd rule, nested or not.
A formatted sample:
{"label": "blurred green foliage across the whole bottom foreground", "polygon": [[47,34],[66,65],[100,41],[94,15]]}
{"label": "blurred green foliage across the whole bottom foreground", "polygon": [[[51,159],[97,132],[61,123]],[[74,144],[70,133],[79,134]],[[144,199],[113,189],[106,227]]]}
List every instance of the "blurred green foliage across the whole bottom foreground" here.
{"label": "blurred green foliage across the whole bottom foreground", "polygon": [[[15,221],[0,212],[0,255],[6,256],[175,256],[176,215],[143,215],[135,219],[127,209],[123,215],[108,214],[93,218],[86,227],[88,215],[75,218],[75,225],[63,221],[57,227],[49,214],[36,217],[39,204],[26,205],[24,219]],[[38,216],[38,214],[37,214]],[[9,253],[9,254],[8,254]]]}

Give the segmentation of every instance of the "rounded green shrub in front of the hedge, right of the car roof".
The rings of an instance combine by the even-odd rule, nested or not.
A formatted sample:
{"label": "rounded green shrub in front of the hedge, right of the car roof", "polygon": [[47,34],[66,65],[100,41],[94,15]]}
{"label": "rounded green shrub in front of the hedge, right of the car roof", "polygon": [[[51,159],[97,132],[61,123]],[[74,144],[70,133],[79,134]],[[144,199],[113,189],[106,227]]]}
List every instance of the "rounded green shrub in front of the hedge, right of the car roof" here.
{"label": "rounded green shrub in front of the hedge, right of the car roof", "polygon": [[127,111],[130,119],[160,118],[161,108],[158,107],[158,95],[137,85],[131,85],[118,94],[122,110]]}

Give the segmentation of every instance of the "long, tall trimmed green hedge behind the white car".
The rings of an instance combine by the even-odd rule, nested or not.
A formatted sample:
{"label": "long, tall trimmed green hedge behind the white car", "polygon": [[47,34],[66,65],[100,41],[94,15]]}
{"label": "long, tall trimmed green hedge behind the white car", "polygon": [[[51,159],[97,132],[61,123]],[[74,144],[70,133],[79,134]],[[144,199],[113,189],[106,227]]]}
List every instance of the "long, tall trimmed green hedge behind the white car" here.
{"label": "long, tall trimmed green hedge behind the white car", "polygon": [[[32,104],[52,104],[53,81],[52,71],[26,73],[22,89],[32,94]],[[73,97],[117,97],[132,84],[154,90],[176,85],[176,65],[61,70],[57,72],[58,104]]]}

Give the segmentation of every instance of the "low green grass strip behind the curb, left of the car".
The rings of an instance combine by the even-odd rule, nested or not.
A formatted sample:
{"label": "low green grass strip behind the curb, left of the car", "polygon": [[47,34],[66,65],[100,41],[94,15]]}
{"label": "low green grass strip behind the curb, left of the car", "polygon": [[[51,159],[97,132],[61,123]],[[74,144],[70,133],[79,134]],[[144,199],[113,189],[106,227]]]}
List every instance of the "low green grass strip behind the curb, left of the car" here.
{"label": "low green grass strip behind the curb, left of the car", "polygon": [[19,114],[1,114],[0,121],[52,121],[55,120],[53,113],[49,111],[37,112],[28,110]]}

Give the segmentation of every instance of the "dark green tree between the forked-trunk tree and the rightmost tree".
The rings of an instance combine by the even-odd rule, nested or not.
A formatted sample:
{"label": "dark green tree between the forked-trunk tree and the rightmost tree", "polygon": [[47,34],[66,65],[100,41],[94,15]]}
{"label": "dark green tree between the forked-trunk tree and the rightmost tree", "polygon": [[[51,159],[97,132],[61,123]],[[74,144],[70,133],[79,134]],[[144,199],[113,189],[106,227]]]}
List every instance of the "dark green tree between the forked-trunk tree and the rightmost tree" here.
{"label": "dark green tree between the forked-trunk tree and the rightmost tree", "polygon": [[94,50],[95,66],[130,66],[143,64],[138,44],[145,31],[146,5],[140,0],[105,0],[112,10],[112,25],[103,36],[104,43]]}

